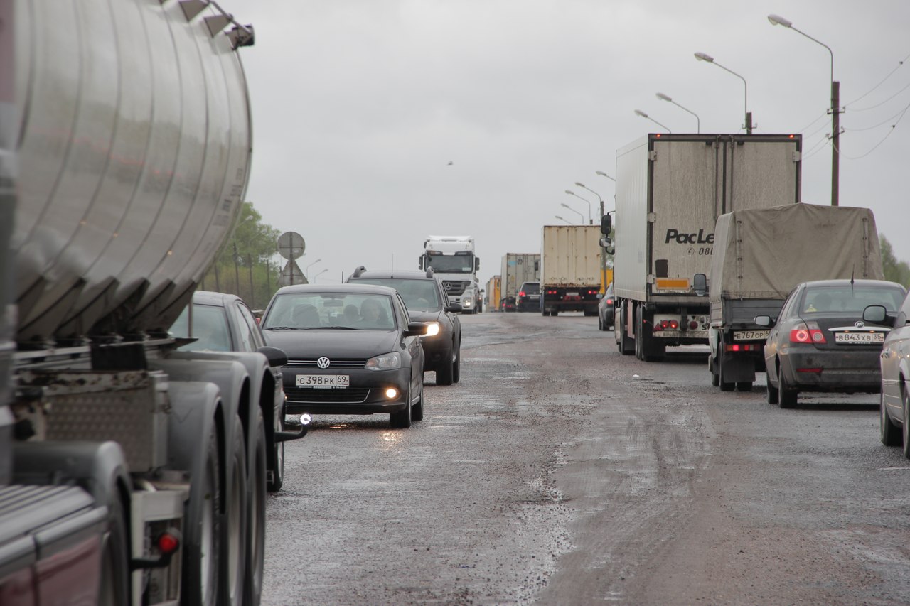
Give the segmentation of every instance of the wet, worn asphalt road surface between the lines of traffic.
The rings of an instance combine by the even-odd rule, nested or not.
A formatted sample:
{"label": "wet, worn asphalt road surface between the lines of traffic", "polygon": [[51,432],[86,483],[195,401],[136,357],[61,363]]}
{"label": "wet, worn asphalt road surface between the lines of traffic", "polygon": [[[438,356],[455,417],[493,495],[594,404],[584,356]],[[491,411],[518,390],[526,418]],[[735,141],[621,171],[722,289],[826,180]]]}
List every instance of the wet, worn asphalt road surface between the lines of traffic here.
{"label": "wet, worn asphalt road surface between the lines of traffic", "polygon": [[910,603],[910,461],[877,396],[710,387],[597,318],[462,317],[426,416],[317,417],[268,500],[263,604]]}

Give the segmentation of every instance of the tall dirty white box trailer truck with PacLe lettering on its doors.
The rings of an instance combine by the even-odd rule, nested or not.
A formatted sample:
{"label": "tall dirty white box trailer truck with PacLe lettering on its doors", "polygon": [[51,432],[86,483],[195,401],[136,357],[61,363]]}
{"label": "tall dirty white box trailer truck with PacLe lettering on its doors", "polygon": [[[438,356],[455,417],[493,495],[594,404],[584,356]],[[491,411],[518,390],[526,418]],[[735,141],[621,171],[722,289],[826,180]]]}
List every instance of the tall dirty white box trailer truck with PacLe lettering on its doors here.
{"label": "tall dirty white box trailer truck with PacLe lettering on its doors", "polygon": [[800,135],[649,134],[616,154],[614,330],[623,354],[662,359],[707,344],[710,308],[693,290],[707,274],[724,213],[800,200]]}

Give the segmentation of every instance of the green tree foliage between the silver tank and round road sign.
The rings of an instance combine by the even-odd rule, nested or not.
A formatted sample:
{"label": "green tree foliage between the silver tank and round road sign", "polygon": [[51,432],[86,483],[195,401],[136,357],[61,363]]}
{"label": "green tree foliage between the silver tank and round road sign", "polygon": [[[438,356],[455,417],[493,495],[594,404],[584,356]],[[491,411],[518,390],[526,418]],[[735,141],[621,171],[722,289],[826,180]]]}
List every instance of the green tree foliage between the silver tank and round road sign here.
{"label": "green tree foliage between the silver tank and round road sign", "polygon": [[262,223],[252,202],[244,202],[231,236],[218,250],[200,289],[238,295],[250,308],[265,308],[278,289],[281,268],[272,260],[280,232]]}

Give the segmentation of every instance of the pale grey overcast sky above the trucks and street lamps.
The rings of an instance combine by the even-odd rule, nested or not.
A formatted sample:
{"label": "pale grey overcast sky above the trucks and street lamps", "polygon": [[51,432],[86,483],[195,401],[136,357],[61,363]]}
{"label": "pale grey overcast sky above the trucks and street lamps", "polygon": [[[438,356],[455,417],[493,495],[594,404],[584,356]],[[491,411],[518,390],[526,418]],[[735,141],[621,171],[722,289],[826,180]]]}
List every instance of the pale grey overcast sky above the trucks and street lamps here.
{"label": "pale grey overcast sky above the trucks and street lamps", "polygon": [[[312,281],[416,269],[423,240],[475,237],[480,281],[541,226],[612,209],[616,149],[662,132],[803,133],[803,201],[831,202],[831,56],[841,206],[870,207],[910,260],[907,0],[268,0],[223,3],[253,108],[247,199],[296,231]],[[718,66],[696,61],[701,51]],[[902,65],[902,62],[905,64]],[[907,112],[910,113],[910,112]],[[892,127],[894,126],[895,127]],[[890,136],[889,136],[890,134]],[[578,212],[561,207],[567,203]],[[579,216],[578,213],[581,213]],[[316,263],[317,259],[321,259]]]}

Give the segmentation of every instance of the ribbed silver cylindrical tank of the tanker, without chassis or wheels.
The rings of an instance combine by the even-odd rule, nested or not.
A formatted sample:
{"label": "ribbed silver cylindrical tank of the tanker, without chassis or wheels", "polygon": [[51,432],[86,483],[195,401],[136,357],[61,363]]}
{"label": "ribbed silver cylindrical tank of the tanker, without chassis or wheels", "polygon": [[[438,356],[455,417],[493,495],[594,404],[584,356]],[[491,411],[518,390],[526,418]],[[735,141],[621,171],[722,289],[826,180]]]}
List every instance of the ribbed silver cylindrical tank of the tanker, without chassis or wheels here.
{"label": "ribbed silver cylindrical tank of the tanker, without chassis or wheels", "polygon": [[166,329],[246,189],[249,106],[232,36],[194,35],[177,2],[16,8],[16,340]]}

